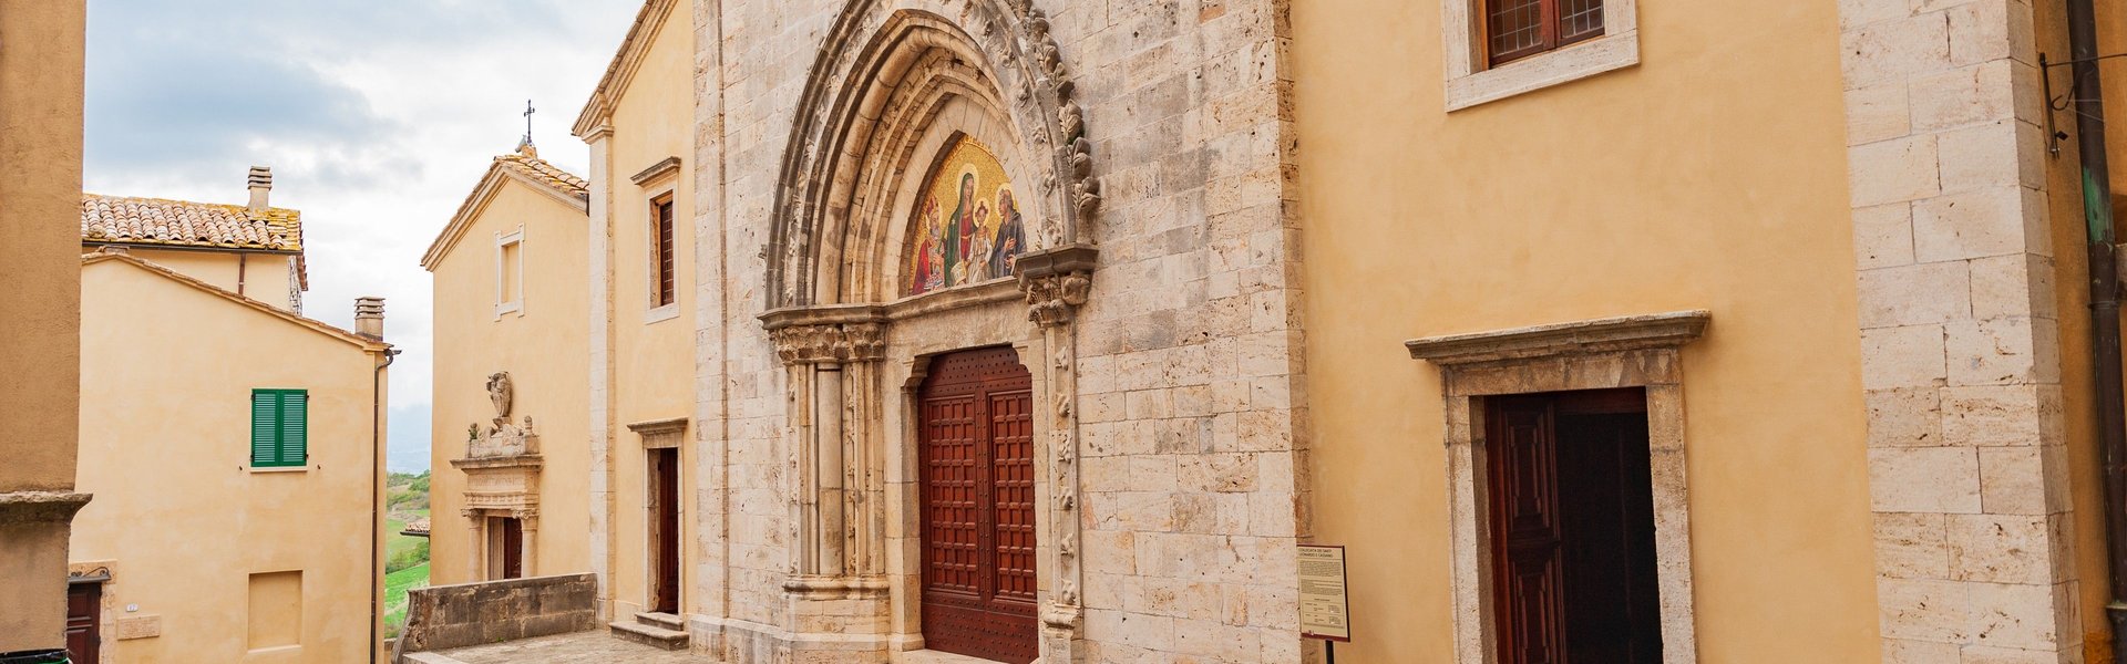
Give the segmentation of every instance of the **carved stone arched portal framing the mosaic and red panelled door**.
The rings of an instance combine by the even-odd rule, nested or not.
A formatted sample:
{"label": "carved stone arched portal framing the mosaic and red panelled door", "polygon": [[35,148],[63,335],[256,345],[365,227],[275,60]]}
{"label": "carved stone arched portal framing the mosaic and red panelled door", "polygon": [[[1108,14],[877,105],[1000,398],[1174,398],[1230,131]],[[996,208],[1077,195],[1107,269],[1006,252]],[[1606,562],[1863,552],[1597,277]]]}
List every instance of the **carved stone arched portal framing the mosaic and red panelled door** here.
{"label": "carved stone arched portal framing the mosaic and red panelled door", "polygon": [[778,175],[761,315],[787,366],[785,449],[798,468],[791,649],[847,651],[866,630],[883,649],[951,647],[925,626],[938,587],[923,551],[942,541],[921,528],[923,496],[942,485],[925,483],[923,432],[940,421],[923,392],[925,377],[987,349],[985,362],[1025,377],[1012,441],[1027,496],[1008,515],[991,504],[991,517],[1015,519],[1000,532],[1025,541],[981,551],[1023,558],[1008,575],[1017,585],[989,596],[1002,604],[972,611],[1023,626],[991,634],[1004,641],[987,655],[1070,662],[1081,632],[1072,311],[1091,285],[1085,226],[1100,187],[1068,68],[1025,0],[853,0],[825,45]]}

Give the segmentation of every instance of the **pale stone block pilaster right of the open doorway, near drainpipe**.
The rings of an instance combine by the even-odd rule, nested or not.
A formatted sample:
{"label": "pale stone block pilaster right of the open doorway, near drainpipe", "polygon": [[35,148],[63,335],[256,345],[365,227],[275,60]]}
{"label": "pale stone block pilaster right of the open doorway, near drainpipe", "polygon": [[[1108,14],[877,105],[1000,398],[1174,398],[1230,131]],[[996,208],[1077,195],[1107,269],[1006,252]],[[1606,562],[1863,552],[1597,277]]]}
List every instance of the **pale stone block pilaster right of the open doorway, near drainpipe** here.
{"label": "pale stone block pilaster right of the open doorway, near drainpipe", "polygon": [[2023,0],[1840,2],[1885,662],[2078,662]]}

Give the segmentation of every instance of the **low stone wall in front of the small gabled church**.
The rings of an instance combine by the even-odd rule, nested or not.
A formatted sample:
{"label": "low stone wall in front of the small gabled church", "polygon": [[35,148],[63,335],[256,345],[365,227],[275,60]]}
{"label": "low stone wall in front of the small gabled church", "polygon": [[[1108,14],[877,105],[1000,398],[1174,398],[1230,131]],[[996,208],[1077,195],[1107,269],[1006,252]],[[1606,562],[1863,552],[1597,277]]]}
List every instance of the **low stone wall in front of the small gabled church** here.
{"label": "low stone wall in front of the small gabled church", "polygon": [[415,587],[400,651],[568,634],[598,628],[598,577],[534,577]]}

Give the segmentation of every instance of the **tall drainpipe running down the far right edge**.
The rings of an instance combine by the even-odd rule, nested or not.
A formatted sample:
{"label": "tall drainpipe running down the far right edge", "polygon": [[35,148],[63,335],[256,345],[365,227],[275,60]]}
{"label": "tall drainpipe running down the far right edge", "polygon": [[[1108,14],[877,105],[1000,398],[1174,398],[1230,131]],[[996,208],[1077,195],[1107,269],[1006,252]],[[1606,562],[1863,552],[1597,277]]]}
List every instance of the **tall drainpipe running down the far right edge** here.
{"label": "tall drainpipe running down the far right edge", "polygon": [[2106,164],[2106,102],[2097,77],[2097,11],[2067,0],[2067,49],[2074,72],[2076,145],[2082,155],[2082,221],[2089,232],[2091,362],[2097,447],[2106,477],[2106,562],[2112,662],[2127,664],[2127,398],[2121,389],[2121,277],[2112,230],[2112,168]]}

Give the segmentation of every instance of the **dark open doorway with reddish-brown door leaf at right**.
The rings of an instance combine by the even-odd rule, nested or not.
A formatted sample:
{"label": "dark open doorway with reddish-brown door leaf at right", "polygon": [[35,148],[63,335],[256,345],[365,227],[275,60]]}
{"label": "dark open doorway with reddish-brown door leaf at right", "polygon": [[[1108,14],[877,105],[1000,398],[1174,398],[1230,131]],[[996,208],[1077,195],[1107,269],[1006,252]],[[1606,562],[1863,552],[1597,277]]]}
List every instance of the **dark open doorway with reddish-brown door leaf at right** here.
{"label": "dark open doorway with reddish-brown door leaf at right", "polygon": [[1500,396],[1485,413],[1500,662],[1659,662],[1646,392]]}

